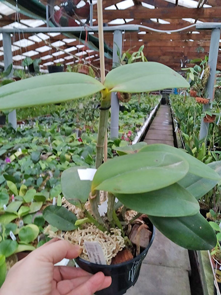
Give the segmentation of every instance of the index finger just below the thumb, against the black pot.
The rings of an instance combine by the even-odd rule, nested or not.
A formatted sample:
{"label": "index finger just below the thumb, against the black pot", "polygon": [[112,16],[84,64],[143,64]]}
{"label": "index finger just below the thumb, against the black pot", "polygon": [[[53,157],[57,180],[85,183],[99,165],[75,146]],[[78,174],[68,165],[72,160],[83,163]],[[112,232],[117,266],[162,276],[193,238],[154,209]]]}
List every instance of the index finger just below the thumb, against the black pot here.
{"label": "index finger just below the thumb, against the black pot", "polygon": [[[54,273],[60,274],[61,280],[71,280],[83,276],[91,276],[91,273],[86,272],[85,270],[77,267],[71,266],[55,266]],[[56,279],[56,277],[55,277]]]}

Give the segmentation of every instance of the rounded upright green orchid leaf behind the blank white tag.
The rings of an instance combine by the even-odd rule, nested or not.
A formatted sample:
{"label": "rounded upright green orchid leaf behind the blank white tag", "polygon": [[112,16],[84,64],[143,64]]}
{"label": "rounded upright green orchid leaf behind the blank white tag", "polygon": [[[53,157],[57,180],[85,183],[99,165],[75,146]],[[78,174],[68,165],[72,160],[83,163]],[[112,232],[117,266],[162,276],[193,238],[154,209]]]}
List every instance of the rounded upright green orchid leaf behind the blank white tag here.
{"label": "rounded upright green orchid leaf behind the blank white tag", "polygon": [[91,181],[81,180],[78,175],[78,169],[84,168],[86,167],[71,167],[61,174],[63,196],[69,203],[77,207],[86,203],[90,193]]}

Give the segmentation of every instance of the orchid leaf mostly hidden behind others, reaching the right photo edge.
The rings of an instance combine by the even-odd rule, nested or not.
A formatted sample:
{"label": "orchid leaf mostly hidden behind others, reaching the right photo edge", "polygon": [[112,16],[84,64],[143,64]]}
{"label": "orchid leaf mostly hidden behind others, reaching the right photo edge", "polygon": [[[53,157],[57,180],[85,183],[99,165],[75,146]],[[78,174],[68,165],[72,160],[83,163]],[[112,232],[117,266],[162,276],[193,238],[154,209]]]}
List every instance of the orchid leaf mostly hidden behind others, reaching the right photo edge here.
{"label": "orchid leaf mostly hidden behind others, reaching the right photo edge", "polygon": [[[214,169],[221,176],[221,161],[212,162],[206,166]],[[218,180],[205,179],[188,173],[178,183],[185,187],[196,199],[200,199],[218,183]]]}

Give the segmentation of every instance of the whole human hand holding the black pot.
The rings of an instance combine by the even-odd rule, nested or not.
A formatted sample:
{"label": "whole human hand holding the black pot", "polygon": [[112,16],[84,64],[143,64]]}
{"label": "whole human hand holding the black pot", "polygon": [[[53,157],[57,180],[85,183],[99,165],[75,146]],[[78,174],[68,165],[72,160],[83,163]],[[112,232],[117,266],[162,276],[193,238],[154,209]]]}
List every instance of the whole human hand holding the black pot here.
{"label": "whole human hand holding the black pot", "polygon": [[63,258],[78,257],[82,249],[53,239],[16,263],[0,288],[0,295],[93,295],[108,288],[111,277],[81,268],[54,266]]}

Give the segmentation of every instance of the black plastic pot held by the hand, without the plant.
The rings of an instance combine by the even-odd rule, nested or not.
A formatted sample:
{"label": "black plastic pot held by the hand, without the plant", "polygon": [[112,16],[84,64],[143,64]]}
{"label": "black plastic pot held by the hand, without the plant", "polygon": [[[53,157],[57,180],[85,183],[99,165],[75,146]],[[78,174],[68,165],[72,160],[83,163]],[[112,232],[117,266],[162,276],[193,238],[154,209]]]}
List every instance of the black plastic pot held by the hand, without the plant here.
{"label": "black plastic pot held by the hand, without the plant", "polygon": [[105,266],[90,263],[79,257],[75,259],[76,264],[87,272],[94,274],[102,271],[105,275],[111,276],[111,286],[107,289],[96,292],[96,295],[122,295],[125,294],[129,288],[135,285],[138,280],[142,261],[146,257],[155,236],[155,227],[152,224],[151,226],[150,229],[152,231],[152,237],[149,245],[137,257],[130,261],[118,265]]}

